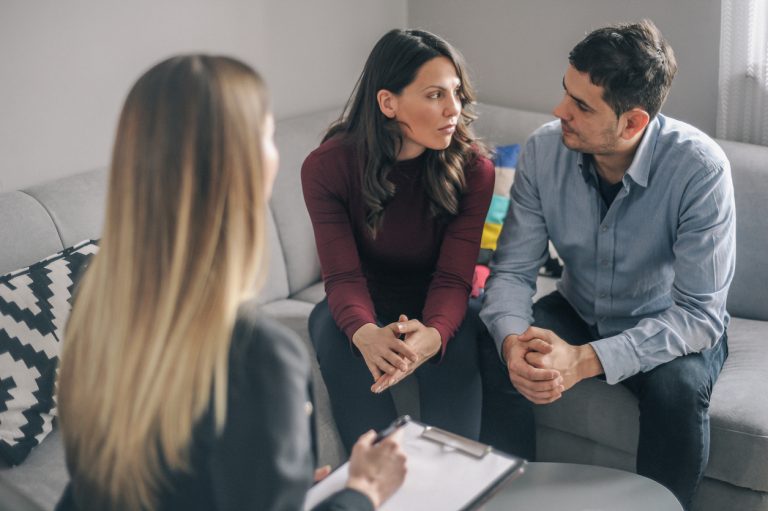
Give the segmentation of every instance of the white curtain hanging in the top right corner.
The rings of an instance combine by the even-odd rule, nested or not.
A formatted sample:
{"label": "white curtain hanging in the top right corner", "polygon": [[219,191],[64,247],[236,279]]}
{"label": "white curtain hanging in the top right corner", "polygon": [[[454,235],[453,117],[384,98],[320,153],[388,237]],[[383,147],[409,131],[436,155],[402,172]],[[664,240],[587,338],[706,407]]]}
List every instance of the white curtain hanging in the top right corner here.
{"label": "white curtain hanging in the top right corner", "polygon": [[768,145],[768,0],[723,0],[717,137]]}

